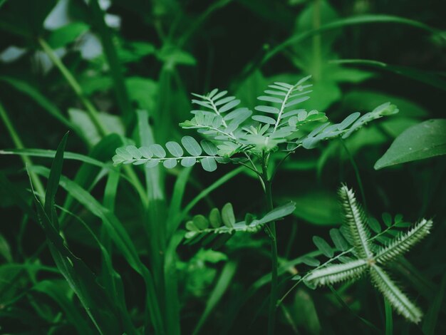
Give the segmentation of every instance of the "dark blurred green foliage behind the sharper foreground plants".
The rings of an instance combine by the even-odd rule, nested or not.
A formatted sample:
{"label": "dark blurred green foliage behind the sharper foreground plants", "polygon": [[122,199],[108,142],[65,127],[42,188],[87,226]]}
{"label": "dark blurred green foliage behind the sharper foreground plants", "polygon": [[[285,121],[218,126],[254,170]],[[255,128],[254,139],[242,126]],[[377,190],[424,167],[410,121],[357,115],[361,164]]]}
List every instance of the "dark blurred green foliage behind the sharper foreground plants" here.
{"label": "dark blurred green foliage behind the sharper foreground plants", "polygon": [[[314,87],[304,108],[321,110],[333,120],[390,101],[398,105],[398,115],[368,126],[344,144],[334,141],[301,152],[283,165],[274,195],[279,202],[294,200],[296,212],[278,226],[279,255],[282,264],[289,264],[316,250],[311,237],[327,237],[329,228],[341,223],[336,188],[348,182],[358,189],[360,175],[370,216],[380,220],[382,212],[404,213],[408,222],[434,217],[432,236],[409,254],[410,262],[395,264],[398,279],[418,299],[427,321],[413,326],[395,316],[393,329],[397,334],[444,334],[446,160],[440,156],[373,168],[404,130],[444,118],[444,13],[442,1],[433,0],[0,0],[0,148],[55,150],[71,130],[67,151],[110,165],[115,148],[138,142],[140,122],[150,125],[157,143],[185,135],[177,124],[193,109],[191,92],[227,89],[254,108],[269,83],[293,83],[308,74]],[[44,157],[22,158],[28,165],[51,165]],[[0,158],[0,331],[71,334],[90,329],[94,334],[36,223],[24,162],[11,155]],[[190,172],[185,202],[231,169]],[[145,174],[131,171],[127,177],[133,183],[120,182],[108,208],[156,277],[150,254],[155,237],[142,232],[141,222],[151,220],[145,215],[145,191],[135,189],[135,180]],[[158,173],[153,188],[170,199],[180,169]],[[107,169],[66,160],[63,174],[106,204]],[[262,212],[254,177],[249,171],[234,174],[185,216],[229,201],[241,216]],[[44,192],[43,179],[31,178],[36,190]],[[70,192],[60,193],[58,205],[100,234],[98,217]],[[158,215],[157,220],[164,217]],[[72,215],[61,211],[60,217],[73,253],[93,272],[103,271],[88,231]],[[264,334],[266,243],[263,234],[255,234],[235,236],[217,251],[180,244],[174,258],[184,334],[212,329]],[[123,279],[129,317],[141,329],[147,325],[144,282],[115,249],[113,266]],[[291,262],[281,277],[281,292],[291,287],[290,276],[305,269],[301,262]],[[277,334],[373,334],[375,329],[358,316],[383,330],[380,299],[361,280],[344,285],[337,295],[298,287],[278,309]]]}

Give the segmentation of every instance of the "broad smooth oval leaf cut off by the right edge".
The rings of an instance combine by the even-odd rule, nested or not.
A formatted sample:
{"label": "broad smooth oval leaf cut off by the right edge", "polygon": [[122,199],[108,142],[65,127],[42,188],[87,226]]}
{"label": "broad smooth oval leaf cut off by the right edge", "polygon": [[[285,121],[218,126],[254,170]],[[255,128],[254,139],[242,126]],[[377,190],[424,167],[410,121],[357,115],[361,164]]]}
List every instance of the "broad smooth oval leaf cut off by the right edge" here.
{"label": "broad smooth oval leaf cut off by the right edge", "polygon": [[446,154],[446,119],[432,119],[408,128],[375,163],[375,170]]}

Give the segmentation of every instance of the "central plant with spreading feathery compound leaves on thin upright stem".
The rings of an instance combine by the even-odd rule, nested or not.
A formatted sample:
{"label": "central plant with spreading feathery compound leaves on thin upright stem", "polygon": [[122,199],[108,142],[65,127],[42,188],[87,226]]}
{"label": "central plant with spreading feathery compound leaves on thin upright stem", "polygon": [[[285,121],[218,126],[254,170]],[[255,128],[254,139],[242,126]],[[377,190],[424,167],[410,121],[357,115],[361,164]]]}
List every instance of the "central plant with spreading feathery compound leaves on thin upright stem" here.
{"label": "central plant with spreading feathery compound leaves on thin upright stem", "polygon": [[[180,123],[185,129],[196,129],[206,140],[201,145],[190,136],[182,138],[181,143],[189,155],[184,156],[180,144],[174,141],[166,143],[171,157],[167,157],[159,144],[137,148],[128,145],[116,150],[113,156],[115,165],[133,164],[153,168],[162,163],[165,168],[175,168],[180,160],[183,166],[192,166],[200,162],[204,170],[214,171],[217,163],[236,163],[256,173],[263,187],[268,210],[273,210],[272,183],[279,165],[298,148],[316,148],[322,140],[348,138],[351,133],[365,123],[398,113],[398,108],[390,103],[378,106],[370,113],[352,113],[341,123],[326,122],[325,113],[317,110],[298,109],[297,105],[310,98],[311,84],[307,76],[297,83],[275,82],[259,96],[261,105],[253,113],[248,108],[239,108],[240,100],[227,96],[227,91],[212,90],[206,95],[194,94],[199,100],[192,103],[199,105],[199,110],[192,110],[195,116]],[[254,114],[254,115],[253,115]],[[321,125],[318,125],[322,123]],[[206,153],[206,155],[203,155]],[[279,163],[270,165],[274,156],[279,156]],[[271,239],[272,280],[269,305],[269,334],[274,332],[277,295],[277,241],[274,220],[266,226]]]}

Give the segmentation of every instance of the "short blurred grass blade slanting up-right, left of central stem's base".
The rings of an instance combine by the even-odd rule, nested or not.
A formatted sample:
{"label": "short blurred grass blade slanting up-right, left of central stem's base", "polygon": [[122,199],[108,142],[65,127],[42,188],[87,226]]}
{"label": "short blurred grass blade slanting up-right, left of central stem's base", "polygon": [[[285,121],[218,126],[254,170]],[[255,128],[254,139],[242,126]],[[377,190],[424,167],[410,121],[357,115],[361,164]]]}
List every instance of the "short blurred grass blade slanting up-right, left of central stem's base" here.
{"label": "short blurred grass blade slanting up-right, left of central stem's base", "polygon": [[206,322],[209,314],[211,314],[212,310],[215,308],[215,306],[217,306],[219,301],[222,299],[224,293],[227,291],[229,284],[231,284],[232,282],[232,278],[234,277],[236,270],[237,270],[236,262],[227,262],[227,264],[224,265],[224,268],[222,269],[222,273],[220,274],[218,282],[217,284],[215,284],[215,287],[212,290],[209,299],[207,299],[204,312],[202,316],[199,318],[197,326],[195,326],[195,329],[192,334],[196,335],[199,333],[200,329],[202,329],[202,326],[204,322]]}

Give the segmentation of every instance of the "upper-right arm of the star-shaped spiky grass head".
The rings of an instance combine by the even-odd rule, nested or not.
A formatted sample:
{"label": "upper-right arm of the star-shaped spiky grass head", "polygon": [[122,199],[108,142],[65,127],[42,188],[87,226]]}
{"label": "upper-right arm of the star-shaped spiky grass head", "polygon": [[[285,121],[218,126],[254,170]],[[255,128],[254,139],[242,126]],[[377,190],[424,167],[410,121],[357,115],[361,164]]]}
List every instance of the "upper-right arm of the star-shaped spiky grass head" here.
{"label": "upper-right arm of the star-shaped spiky grass head", "polygon": [[429,234],[432,225],[432,220],[422,219],[408,232],[399,234],[387,246],[378,250],[375,256],[376,262],[383,264],[408,252],[411,247]]}

